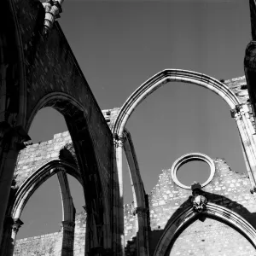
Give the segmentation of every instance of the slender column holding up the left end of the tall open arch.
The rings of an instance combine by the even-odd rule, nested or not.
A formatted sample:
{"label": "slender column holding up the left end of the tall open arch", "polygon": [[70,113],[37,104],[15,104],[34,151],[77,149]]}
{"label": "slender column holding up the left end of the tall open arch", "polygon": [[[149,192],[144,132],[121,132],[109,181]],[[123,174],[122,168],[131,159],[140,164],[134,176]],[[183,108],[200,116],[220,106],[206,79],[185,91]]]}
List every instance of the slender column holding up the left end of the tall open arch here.
{"label": "slender column holding up the left end of the tall open arch", "polygon": [[114,138],[113,163],[113,253],[125,255],[122,153],[124,138]]}

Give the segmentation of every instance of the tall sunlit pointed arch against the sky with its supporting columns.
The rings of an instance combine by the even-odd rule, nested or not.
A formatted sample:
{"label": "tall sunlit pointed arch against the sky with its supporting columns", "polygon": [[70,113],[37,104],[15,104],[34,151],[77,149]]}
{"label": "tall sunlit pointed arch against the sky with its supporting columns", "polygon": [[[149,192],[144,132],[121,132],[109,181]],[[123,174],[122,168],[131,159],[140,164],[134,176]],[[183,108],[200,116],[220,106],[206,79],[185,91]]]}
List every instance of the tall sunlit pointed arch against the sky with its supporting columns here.
{"label": "tall sunlit pointed arch against the sky with its supporting columns", "polygon": [[[212,90],[218,96],[220,96],[224,102],[230,106],[230,110],[233,113],[233,117],[236,119],[236,124],[239,130],[239,136],[241,137],[242,147],[245,148],[245,161],[249,162],[248,174],[252,186],[255,186],[255,177],[252,172],[256,172],[256,157],[255,157],[255,142],[252,136],[252,125],[249,119],[247,119],[247,106],[241,104],[240,99],[235,95],[235,93],[230,90],[230,88],[219,81],[203,73],[196,73],[192,71],[182,70],[182,69],[166,69],[160,73],[155,74],[152,78],[144,82],[140,87],[135,90],[131,96],[125,101],[123,106],[119,109],[117,118],[115,119],[113,125],[113,137],[115,140],[115,155],[114,155],[114,167],[117,169],[117,175],[114,177],[116,182],[119,183],[118,195],[119,199],[116,199],[116,205],[119,209],[119,227],[120,227],[120,237],[121,243],[124,247],[124,233],[122,222],[123,219],[123,173],[122,173],[122,150],[125,145],[125,125],[131,116],[131,113],[137,108],[137,106],[143,102],[147,96],[152,94],[154,90],[160,88],[160,86],[168,82],[184,82],[189,84],[199,85]],[[136,168],[131,169],[131,172],[135,172]],[[139,184],[143,184],[141,177],[137,173],[131,173],[132,176],[137,176]],[[140,185],[139,185],[140,186]],[[135,190],[134,201],[139,203],[142,198],[139,191],[143,191],[143,188]],[[146,210],[146,209],[145,209]],[[147,210],[146,210],[147,211]],[[140,241],[139,247],[144,247],[146,243],[145,240],[148,238],[144,236],[143,240]]]}

